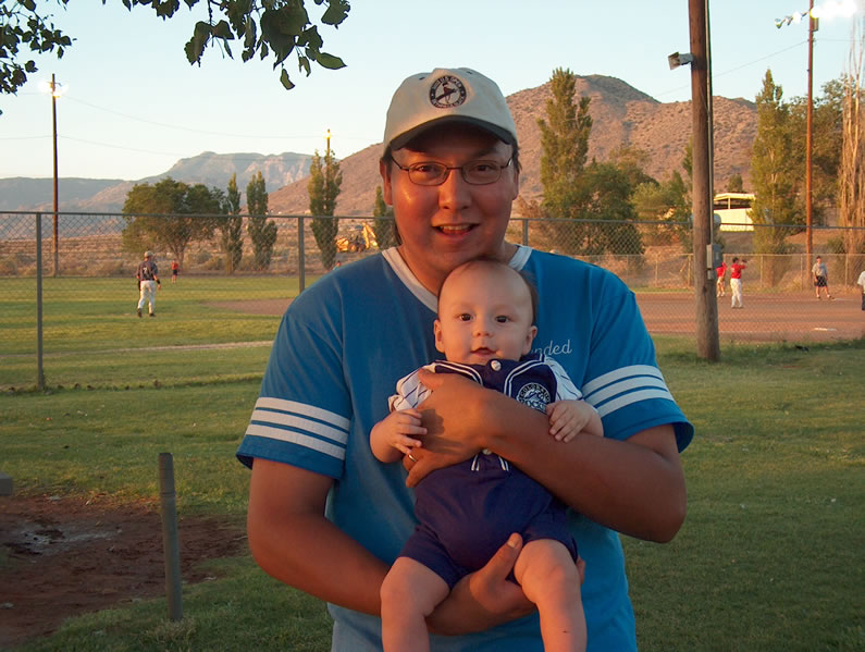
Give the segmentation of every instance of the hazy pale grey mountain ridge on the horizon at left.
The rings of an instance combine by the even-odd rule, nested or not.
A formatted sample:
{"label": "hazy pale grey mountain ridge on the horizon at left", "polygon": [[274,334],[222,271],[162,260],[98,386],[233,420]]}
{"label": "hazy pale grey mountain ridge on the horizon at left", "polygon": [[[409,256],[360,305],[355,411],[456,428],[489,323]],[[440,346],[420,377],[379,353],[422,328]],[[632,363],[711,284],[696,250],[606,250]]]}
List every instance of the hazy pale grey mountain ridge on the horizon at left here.
{"label": "hazy pale grey mountain ridge on the horizon at left", "polygon": [[[284,152],[261,153],[213,153],[181,159],[162,174],[138,181],[120,179],[66,179],[58,180],[60,210],[72,212],[120,212],[126,194],[136,183],[155,183],[165,176],[187,184],[202,183],[220,189],[228,187],[232,174],[237,174],[237,187],[242,195],[256,172],[261,172],[269,189],[281,188],[309,174],[310,156]],[[53,180],[0,179],[0,210],[52,210]]]}

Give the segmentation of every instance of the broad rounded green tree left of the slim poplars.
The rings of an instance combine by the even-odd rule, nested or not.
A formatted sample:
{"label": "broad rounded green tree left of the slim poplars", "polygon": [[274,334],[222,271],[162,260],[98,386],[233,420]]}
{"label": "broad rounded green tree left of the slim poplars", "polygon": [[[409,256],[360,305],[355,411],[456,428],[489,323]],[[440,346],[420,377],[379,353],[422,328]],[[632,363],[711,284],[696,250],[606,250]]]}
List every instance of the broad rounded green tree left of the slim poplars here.
{"label": "broad rounded green tree left of the slim poplars", "polygon": [[203,184],[189,186],[166,176],[136,184],[126,195],[123,247],[128,251],[168,249],[183,267],[191,242],[212,237],[225,195]]}

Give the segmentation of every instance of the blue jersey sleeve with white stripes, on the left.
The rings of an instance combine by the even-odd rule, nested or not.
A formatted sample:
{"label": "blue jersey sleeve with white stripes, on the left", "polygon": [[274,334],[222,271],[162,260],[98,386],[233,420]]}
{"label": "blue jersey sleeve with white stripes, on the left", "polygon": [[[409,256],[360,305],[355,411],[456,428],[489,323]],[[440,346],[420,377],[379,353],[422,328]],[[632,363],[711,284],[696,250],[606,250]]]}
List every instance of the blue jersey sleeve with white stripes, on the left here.
{"label": "blue jersey sleeve with white stripes, on the left", "polygon": [[339,297],[316,286],[289,306],[273,343],[237,458],[257,457],[339,478],[351,419],[342,372]]}

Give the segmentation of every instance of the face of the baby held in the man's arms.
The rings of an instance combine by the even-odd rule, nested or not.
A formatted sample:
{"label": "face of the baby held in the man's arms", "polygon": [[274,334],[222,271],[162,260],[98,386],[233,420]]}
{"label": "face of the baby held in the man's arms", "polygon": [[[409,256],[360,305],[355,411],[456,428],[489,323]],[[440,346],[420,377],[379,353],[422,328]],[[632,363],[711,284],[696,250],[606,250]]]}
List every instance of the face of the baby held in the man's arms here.
{"label": "face of the baby held in the man's arms", "polygon": [[438,294],[435,347],[448,360],[485,365],[517,360],[531,350],[532,298],[508,268],[472,263],[447,278]]}

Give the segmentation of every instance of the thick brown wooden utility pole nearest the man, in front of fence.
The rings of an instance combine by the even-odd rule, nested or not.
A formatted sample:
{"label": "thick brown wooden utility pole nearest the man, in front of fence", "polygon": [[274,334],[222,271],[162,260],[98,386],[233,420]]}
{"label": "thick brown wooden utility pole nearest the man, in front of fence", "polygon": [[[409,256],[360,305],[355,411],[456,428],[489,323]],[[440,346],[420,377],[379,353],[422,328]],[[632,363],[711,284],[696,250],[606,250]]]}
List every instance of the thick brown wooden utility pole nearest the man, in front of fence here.
{"label": "thick brown wooden utility pole nearest the man, in front of fence", "polygon": [[708,0],[689,0],[691,29],[691,124],[693,135],[692,212],[696,347],[701,358],[720,360],[718,302],[712,257],[713,169],[712,93],[708,54]]}

